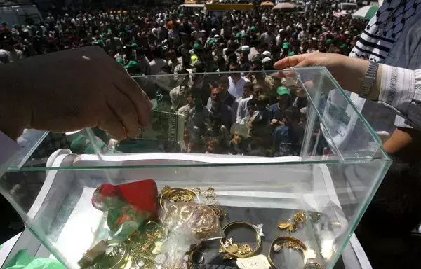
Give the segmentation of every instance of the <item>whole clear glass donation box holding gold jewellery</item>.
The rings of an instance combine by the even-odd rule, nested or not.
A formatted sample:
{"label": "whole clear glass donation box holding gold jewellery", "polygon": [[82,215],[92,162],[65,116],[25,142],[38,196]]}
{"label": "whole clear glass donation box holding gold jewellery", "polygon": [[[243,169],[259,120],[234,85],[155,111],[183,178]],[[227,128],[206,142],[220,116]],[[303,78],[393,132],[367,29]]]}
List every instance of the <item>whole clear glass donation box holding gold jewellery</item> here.
{"label": "whole clear glass donation box holding gold jewellery", "polygon": [[155,106],[137,138],[25,130],[0,181],[55,258],[333,268],[390,160],[327,69],[133,78]]}

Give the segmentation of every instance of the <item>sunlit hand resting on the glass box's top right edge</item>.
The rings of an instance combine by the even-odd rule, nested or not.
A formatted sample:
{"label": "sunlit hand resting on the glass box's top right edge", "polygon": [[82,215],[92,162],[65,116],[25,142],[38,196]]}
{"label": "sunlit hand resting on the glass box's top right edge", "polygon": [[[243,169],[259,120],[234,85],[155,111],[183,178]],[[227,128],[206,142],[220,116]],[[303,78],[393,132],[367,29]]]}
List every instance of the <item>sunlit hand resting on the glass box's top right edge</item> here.
{"label": "sunlit hand resting on the glass box's top right edge", "polygon": [[[342,88],[358,93],[366,76],[368,61],[334,53],[307,53],[286,57],[274,64],[275,69],[314,66],[326,67]],[[283,72],[279,74],[286,75]]]}

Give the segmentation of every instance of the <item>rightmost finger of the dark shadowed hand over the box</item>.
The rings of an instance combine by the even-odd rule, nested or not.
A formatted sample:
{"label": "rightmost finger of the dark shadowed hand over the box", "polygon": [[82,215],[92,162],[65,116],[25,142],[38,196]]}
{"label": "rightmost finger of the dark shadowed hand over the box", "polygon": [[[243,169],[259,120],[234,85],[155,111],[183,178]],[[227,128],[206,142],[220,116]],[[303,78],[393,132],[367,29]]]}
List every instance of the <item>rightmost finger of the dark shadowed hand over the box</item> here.
{"label": "rightmost finger of the dark shadowed hand over the box", "polygon": [[138,124],[147,126],[149,124],[149,111],[152,103],[138,83],[129,76],[122,76],[116,88],[132,102],[138,114]]}

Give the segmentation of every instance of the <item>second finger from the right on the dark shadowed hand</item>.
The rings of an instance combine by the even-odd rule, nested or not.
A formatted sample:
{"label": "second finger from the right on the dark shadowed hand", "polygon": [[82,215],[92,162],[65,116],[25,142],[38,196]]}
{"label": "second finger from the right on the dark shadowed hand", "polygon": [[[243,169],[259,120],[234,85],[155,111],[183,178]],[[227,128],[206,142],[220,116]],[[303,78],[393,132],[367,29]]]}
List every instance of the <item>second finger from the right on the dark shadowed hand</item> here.
{"label": "second finger from the right on the dark shadowed hand", "polygon": [[114,115],[119,118],[120,122],[126,128],[126,134],[129,137],[138,137],[138,113],[133,102],[119,90],[116,90],[116,94],[110,95],[107,98],[107,104],[109,109],[114,112]]}

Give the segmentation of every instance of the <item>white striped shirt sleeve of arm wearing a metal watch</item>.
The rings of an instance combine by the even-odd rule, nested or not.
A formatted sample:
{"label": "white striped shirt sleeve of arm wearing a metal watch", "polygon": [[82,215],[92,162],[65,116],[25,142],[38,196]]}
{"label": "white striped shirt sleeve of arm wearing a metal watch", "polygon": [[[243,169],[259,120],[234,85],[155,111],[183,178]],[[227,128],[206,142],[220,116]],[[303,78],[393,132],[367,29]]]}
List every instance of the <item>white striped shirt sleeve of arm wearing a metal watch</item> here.
{"label": "white striped shirt sleeve of arm wearing a metal watch", "polygon": [[399,111],[397,127],[421,130],[421,69],[410,70],[382,64],[379,101]]}

